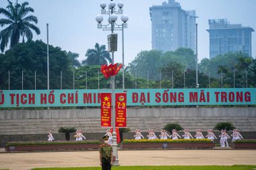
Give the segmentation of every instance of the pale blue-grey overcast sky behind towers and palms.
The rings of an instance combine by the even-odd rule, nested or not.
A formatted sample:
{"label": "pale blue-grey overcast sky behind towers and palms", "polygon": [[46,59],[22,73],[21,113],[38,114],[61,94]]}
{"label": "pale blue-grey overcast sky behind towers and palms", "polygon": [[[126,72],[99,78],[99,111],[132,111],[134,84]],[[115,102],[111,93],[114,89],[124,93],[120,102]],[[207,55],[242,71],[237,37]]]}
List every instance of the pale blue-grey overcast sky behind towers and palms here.
{"label": "pale blue-grey overcast sky behind towers and palms", "polygon": [[[14,0],[11,0],[15,2]],[[79,60],[86,58],[86,50],[94,48],[96,42],[107,44],[110,31],[97,28],[96,15],[100,14],[100,3],[110,0],[27,0],[38,17],[41,34],[34,33],[34,40],[46,43],[46,23],[49,24],[49,44],[62,50],[76,52]],[[165,0],[168,2],[168,0]],[[24,0],[18,0],[19,3]],[[118,1],[115,1],[118,2]],[[149,8],[162,5],[164,0],[123,0],[124,13],[129,16],[125,29],[125,65],[131,62],[141,50],[151,50],[151,21]],[[251,26],[256,30],[256,0],[177,0],[184,10],[195,10],[198,23],[198,57],[209,58],[208,19],[228,19],[230,24]],[[0,7],[6,7],[7,0],[0,0]],[[107,16],[104,15],[106,24]],[[119,24],[121,24],[121,15]],[[3,15],[0,15],[3,18]],[[0,28],[1,30],[3,28]],[[118,52],[115,62],[122,62],[122,34],[119,34]],[[256,56],[256,33],[253,32],[253,57]]]}

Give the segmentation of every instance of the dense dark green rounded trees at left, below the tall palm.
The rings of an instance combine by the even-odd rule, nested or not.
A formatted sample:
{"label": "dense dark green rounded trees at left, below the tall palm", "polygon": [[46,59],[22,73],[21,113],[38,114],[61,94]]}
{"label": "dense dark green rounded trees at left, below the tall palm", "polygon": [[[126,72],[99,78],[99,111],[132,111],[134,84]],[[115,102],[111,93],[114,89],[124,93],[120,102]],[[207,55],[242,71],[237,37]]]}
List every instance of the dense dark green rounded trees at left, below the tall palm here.
{"label": "dense dark green rounded trees at left, below the tall palm", "polygon": [[[11,89],[22,89],[22,71],[24,71],[24,89],[34,89],[36,71],[36,89],[47,89],[47,46],[44,42],[28,40],[7,50],[1,55],[0,89],[8,87],[10,71]],[[71,62],[65,51],[49,46],[50,89],[60,89],[61,71],[63,71],[63,89],[72,89]]]}

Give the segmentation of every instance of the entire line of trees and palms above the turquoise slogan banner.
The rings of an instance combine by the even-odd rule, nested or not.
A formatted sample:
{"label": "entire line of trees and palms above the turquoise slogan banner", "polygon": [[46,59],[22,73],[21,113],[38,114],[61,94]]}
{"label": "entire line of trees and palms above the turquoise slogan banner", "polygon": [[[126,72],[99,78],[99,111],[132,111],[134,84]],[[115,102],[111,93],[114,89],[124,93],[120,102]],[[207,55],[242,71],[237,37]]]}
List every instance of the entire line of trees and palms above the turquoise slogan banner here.
{"label": "entire line of trees and palms above the turquoise slogan banner", "polygon": [[[0,8],[0,89],[47,89],[46,44],[32,41],[32,31],[40,34],[37,17],[28,2],[8,1]],[[25,39],[26,38],[26,39]],[[22,39],[22,42],[20,42]],[[9,50],[6,47],[9,44]],[[104,89],[100,65],[112,62],[105,45],[88,49],[82,63],[79,54],[49,46],[50,89]],[[196,56],[190,48],[175,51],[142,50],[125,68],[125,88],[195,88]],[[241,52],[227,53],[198,63],[199,87],[255,87],[256,59]],[[122,70],[121,70],[122,71]],[[122,87],[121,71],[116,77]],[[62,76],[61,76],[62,75]],[[75,85],[73,84],[75,79]],[[62,85],[62,86],[61,86]]]}

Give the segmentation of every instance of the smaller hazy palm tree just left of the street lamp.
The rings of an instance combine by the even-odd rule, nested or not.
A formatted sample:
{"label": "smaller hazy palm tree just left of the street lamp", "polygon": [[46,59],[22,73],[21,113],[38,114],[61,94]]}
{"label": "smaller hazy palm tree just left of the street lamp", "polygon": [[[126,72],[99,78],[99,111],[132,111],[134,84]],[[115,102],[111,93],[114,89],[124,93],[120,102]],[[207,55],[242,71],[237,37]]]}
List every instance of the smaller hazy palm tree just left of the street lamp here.
{"label": "smaller hazy palm tree just left of the street lamp", "polygon": [[110,54],[106,50],[105,45],[95,44],[95,49],[88,49],[86,52],[87,58],[82,60],[83,65],[107,65],[112,62]]}

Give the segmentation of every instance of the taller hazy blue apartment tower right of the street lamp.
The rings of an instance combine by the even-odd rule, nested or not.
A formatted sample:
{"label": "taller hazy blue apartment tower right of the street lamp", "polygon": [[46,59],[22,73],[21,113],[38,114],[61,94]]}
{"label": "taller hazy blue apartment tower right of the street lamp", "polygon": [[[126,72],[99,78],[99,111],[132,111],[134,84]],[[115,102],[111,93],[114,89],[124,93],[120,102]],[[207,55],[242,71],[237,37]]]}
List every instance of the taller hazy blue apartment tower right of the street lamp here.
{"label": "taller hazy blue apartment tower right of the street lamp", "polygon": [[184,11],[175,0],[150,7],[152,49],[174,51],[191,48],[195,51],[195,11]]}

